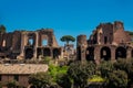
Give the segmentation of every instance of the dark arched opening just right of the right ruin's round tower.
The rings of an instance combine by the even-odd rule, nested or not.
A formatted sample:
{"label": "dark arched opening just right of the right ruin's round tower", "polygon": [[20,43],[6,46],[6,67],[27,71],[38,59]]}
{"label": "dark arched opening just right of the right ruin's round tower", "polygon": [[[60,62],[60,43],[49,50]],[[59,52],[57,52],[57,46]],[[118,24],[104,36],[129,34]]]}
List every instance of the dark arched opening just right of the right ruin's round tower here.
{"label": "dark arched opening just right of the right ruin's round tower", "polygon": [[86,61],[94,61],[94,47],[86,48]]}

